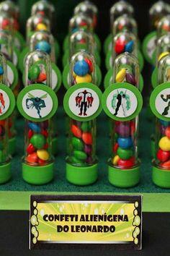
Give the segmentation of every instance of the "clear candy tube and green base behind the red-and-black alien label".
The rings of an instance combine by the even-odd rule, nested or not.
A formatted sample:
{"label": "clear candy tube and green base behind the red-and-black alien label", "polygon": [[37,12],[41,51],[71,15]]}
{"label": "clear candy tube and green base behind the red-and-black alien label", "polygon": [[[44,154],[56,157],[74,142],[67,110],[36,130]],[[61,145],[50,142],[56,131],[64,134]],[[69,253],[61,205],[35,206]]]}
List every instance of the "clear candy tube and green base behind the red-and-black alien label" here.
{"label": "clear candy tube and green base behind the red-and-black alien label", "polygon": [[[70,86],[82,82],[96,82],[94,57],[80,51],[71,58]],[[86,116],[92,105],[91,93],[83,90],[76,96],[76,106],[80,106],[79,116]],[[70,119],[68,131],[68,157],[66,158],[66,179],[77,185],[87,185],[97,180],[96,120],[76,121]]]}

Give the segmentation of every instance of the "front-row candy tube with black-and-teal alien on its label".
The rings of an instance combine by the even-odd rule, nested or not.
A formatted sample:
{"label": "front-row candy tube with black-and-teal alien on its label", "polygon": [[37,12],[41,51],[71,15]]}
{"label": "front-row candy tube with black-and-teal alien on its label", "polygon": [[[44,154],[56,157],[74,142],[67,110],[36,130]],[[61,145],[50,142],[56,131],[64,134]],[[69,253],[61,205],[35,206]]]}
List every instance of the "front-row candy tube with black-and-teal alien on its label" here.
{"label": "front-row candy tube with black-and-teal alien on its label", "polygon": [[137,96],[138,59],[133,54],[121,54],[115,59],[113,70],[113,85],[104,92],[109,92],[106,104],[112,112],[112,115],[109,115],[112,118],[109,182],[116,187],[133,187],[139,182],[140,167],[138,113],[135,110],[135,104],[139,105],[142,101],[141,97]]}

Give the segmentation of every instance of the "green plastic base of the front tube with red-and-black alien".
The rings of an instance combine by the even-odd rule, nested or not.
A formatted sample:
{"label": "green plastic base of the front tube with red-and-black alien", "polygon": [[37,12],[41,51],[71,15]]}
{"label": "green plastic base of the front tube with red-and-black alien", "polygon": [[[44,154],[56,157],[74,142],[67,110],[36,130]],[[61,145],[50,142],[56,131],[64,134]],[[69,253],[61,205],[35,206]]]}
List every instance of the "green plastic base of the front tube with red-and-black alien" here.
{"label": "green plastic base of the front tube with red-and-black alien", "polygon": [[97,181],[97,170],[97,163],[88,167],[77,167],[66,163],[66,179],[72,184],[86,186]]}

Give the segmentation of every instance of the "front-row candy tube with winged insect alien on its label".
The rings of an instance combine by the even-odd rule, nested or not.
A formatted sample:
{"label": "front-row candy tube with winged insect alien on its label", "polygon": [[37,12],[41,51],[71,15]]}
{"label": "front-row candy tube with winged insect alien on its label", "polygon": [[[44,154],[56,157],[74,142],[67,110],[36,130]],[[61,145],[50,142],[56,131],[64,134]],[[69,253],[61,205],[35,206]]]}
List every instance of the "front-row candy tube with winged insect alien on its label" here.
{"label": "front-row candy tube with winged insect alien on its label", "polygon": [[[24,129],[22,177],[30,184],[48,183],[54,175],[52,123],[49,116],[51,110],[48,111],[48,108],[50,104],[54,104],[50,93],[53,97],[56,96],[50,88],[50,76],[50,56],[42,51],[33,51],[28,54],[25,60],[25,88],[19,93],[17,103],[22,102],[21,114],[27,117]],[[55,100],[57,101],[57,98]],[[18,105],[18,108],[22,106]],[[51,105],[51,108],[53,106]],[[45,111],[49,114],[47,115]]]}

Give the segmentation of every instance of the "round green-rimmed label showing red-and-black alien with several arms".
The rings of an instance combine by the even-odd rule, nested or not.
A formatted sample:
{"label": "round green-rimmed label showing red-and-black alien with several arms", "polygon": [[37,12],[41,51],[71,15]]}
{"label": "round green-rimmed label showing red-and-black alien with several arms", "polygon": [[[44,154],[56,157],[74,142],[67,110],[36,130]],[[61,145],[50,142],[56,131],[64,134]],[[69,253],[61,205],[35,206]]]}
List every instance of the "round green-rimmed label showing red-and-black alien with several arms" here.
{"label": "round green-rimmed label showing red-and-black alien with several arms", "polygon": [[63,107],[71,119],[89,121],[95,119],[102,111],[102,92],[88,82],[72,86],[63,99]]}

